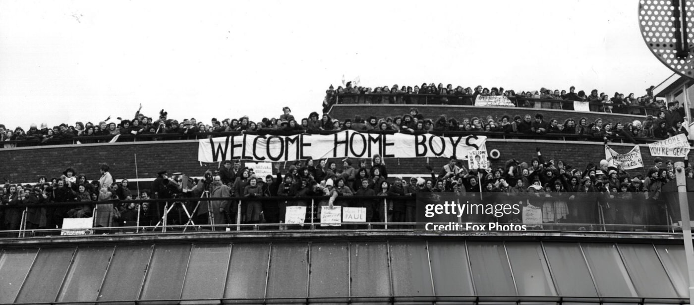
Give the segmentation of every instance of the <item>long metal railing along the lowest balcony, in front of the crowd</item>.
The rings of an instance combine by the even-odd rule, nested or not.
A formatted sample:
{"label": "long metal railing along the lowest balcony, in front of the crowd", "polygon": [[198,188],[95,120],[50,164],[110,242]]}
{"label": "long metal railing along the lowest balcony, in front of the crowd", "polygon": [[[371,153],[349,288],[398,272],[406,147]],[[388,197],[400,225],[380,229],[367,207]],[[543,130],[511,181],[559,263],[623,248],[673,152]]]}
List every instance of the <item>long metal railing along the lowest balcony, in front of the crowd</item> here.
{"label": "long metal railing along the lowest balcony, in front of the crowd", "polygon": [[[468,198],[473,198],[480,196],[486,196],[485,193],[468,193]],[[491,193],[486,193],[491,194]],[[496,193],[505,195],[505,193]],[[636,193],[634,193],[636,194]],[[307,196],[307,197],[260,197],[260,198],[245,198],[245,197],[230,197],[230,198],[171,198],[171,199],[155,199],[155,200],[111,200],[102,202],[51,202],[42,204],[17,204],[17,205],[0,205],[1,212],[9,211],[14,209],[15,211],[22,211],[21,213],[21,223],[19,228],[10,228],[6,231],[0,231],[0,236],[6,237],[32,237],[32,236],[42,236],[42,235],[69,235],[70,230],[75,231],[87,231],[86,234],[98,232],[98,233],[148,233],[148,232],[161,232],[166,233],[169,231],[173,232],[187,232],[191,231],[242,231],[242,230],[278,230],[278,229],[356,229],[356,230],[371,230],[371,229],[418,229],[418,230],[428,230],[432,231],[428,224],[434,225],[446,225],[450,223],[424,223],[421,219],[416,218],[416,216],[406,216],[404,220],[393,221],[391,219],[391,214],[393,214],[393,204],[404,204],[407,206],[401,207],[398,213],[404,214],[407,209],[407,213],[416,213],[416,197],[413,196],[338,196],[335,199],[335,206],[345,207],[365,207],[366,209],[371,209],[375,218],[378,221],[372,221],[372,219],[367,219],[364,222],[345,222],[344,220],[339,223],[321,223],[321,218],[319,213],[321,209],[325,209],[328,206],[328,196]],[[368,201],[367,201],[368,200]],[[214,220],[205,223],[204,218],[196,218],[196,211],[198,209],[204,208],[203,204],[208,204],[212,201],[224,201],[230,203],[230,208],[234,211],[232,216],[234,218],[228,219],[228,221],[222,221],[222,223],[214,223]],[[243,219],[244,215],[244,205],[243,202],[266,202],[268,207],[278,207],[280,209],[280,204],[285,207],[290,206],[303,206],[306,207],[305,221],[303,223],[284,223],[281,219],[277,223],[248,223]],[[405,202],[410,202],[406,204]],[[303,203],[302,203],[303,202]],[[118,207],[122,204],[135,204],[135,210],[137,211],[137,220],[133,223],[128,221],[123,226],[109,226],[109,227],[96,227],[96,221],[99,219],[101,214],[105,214],[105,217],[112,217],[114,207]],[[143,204],[149,204],[149,209],[144,210]],[[44,213],[45,209],[60,209],[65,207],[76,207],[90,205],[94,207],[92,209],[92,225],[91,227],[79,227],[74,229],[65,229],[62,227],[54,228],[40,228],[40,227],[28,227],[28,214],[31,213]],[[371,204],[371,205],[369,205]],[[592,204],[592,203],[591,203]],[[265,209],[266,206],[262,206]],[[659,213],[661,215],[652,215],[650,217],[659,218],[661,223],[654,223],[650,220],[643,219],[642,223],[628,223],[628,221],[616,220],[613,216],[606,216],[607,214],[613,214],[613,207],[610,207],[610,202],[595,202],[595,208],[598,209],[595,217],[582,218],[584,220],[582,223],[569,223],[567,220],[556,223],[513,223],[509,222],[509,219],[502,216],[498,217],[471,217],[466,216],[466,218],[457,218],[457,223],[461,224],[458,229],[450,229],[450,231],[468,231],[464,229],[464,224],[469,226],[476,224],[483,224],[489,222],[498,222],[500,225],[514,224],[514,225],[527,225],[528,231],[598,231],[598,232],[618,232],[618,231],[636,231],[636,232],[675,232],[681,229],[679,225],[676,225],[677,211],[673,211],[672,208],[668,208],[667,202],[661,202],[659,205]],[[174,208],[176,210],[174,210]],[[43,209],[43,210],[42,210]],[[583,207],[583,209],[592,209],[592,207]],[[272,209],[273,210],[273,209]],[[190,212],[192,211],[192,213]],[[208,210],[209,211],[209,210]],[[269,211],[269,210],[268,210]],[[634,210],[636,211],[636,210]],[[634,212],[632,211],[632,212]],[[279,211],[273,211],[279,214]],[[636,211],[638,212],[638,211]],[[573,213],[573,212],[572,212]],[[367,214],[369,212],[367,211]],[[584,214],[584,211],[578,211],[577,214]],[[175,218],[178,217],[178,222]],[[645,215],[643,216],[646,217]],[[67,217],[64,217],[67,218]],[[408,219],[409,218],[409,219]],[[62,219],[62,218],[61,218]],[[174,223],[169,223],[167,220],[172,220]],[[201,222],[202,221],[202,222]],[[513,220],[510,220],[513,221]],[[518,221],[518,220],[516,220]],[[196,223],[198,222],[198,223]],[[212,222],[212,223],[210,223]],[[115,223],[115,222],[114,222]],[[326,226],[327,225],[327,226]],[[437,231],[434,229],[433,231]],[[449,230],[446,230],[449,231]],[[490,230],[491,231],[491,230]],[[67,232],[67,233],[65,233]]]}

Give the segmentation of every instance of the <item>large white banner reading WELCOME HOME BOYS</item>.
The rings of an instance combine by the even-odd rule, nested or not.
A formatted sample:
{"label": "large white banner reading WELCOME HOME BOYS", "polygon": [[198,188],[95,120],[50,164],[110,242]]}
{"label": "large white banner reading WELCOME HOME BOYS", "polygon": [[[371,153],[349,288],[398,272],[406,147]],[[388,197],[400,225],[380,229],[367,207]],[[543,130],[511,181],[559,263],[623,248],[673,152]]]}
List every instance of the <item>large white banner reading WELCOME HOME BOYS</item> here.
{"label": "large white banner reading WELCOME HOME BOYS", "polygon": [[222,162],[231,159],[254,161],[293,161],[312,157],[382,158],[450,157],[466,159],[468,151],[486,150],[486,137],[434,134],[369,134],[344,130],[335,134],[296,134],[272,136],[239,134],[201,139],[199,162]]}

